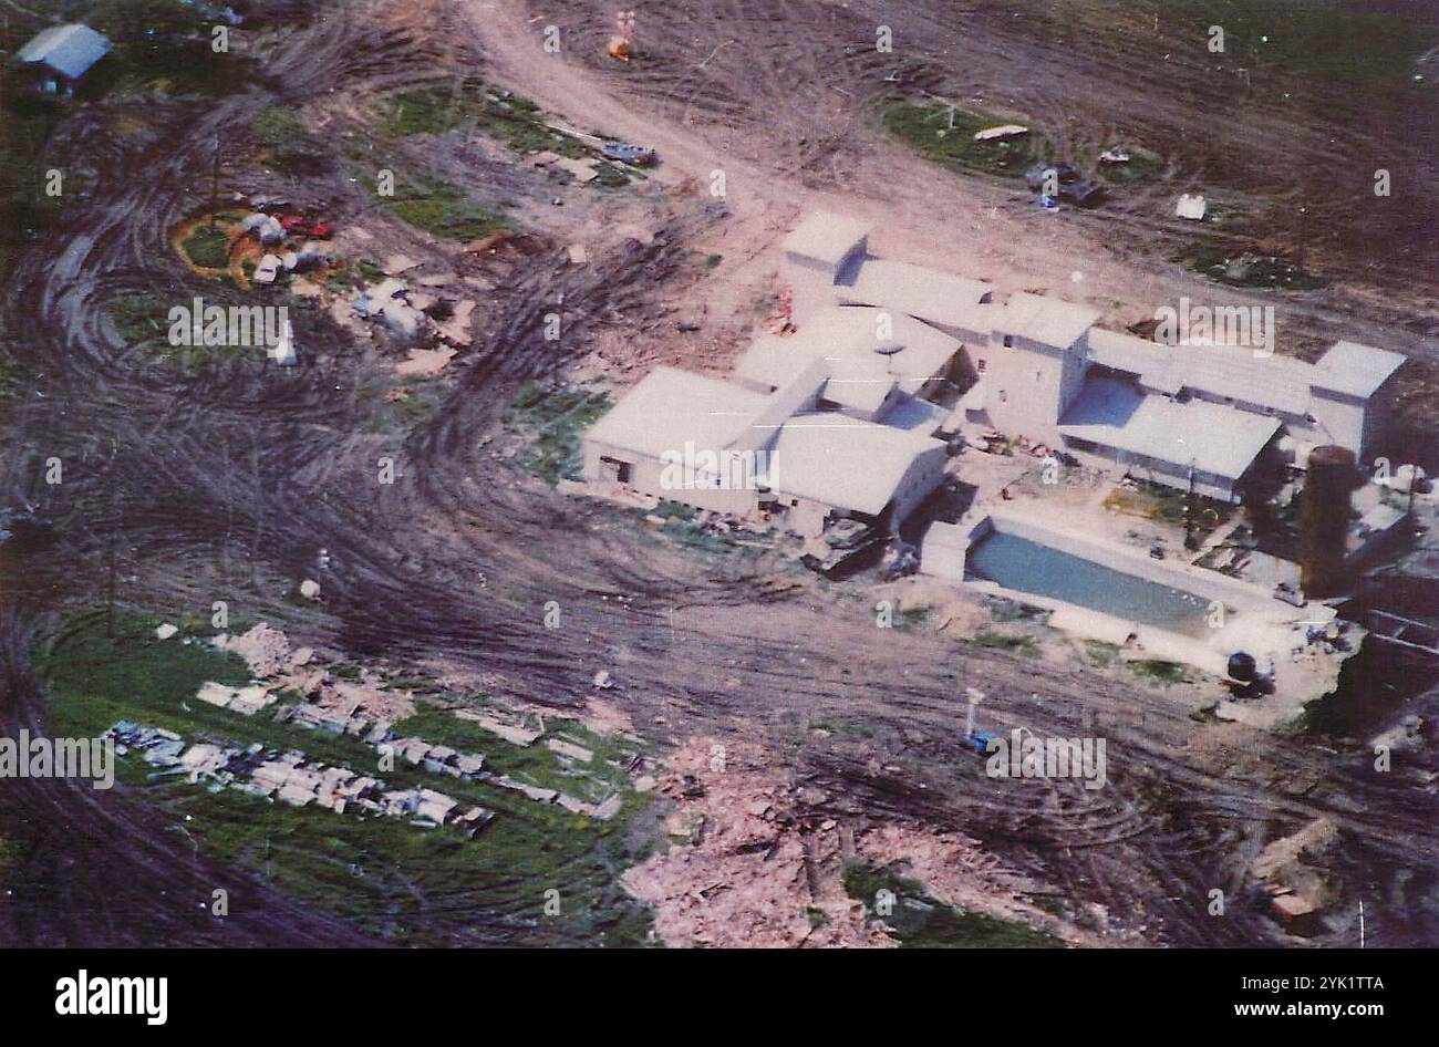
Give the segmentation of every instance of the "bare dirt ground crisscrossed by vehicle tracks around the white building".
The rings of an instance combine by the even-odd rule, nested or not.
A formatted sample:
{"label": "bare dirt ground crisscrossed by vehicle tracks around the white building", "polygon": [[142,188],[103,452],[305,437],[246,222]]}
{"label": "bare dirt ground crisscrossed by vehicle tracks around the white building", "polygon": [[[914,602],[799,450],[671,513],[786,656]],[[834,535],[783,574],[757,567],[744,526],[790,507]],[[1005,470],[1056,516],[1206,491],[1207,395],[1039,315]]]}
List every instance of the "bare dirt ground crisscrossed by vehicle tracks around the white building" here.
{"label": "bare dirt ground crisscrossed by vehicle tracks around the white building", "polygon": [[[961,33],[945,9],[885,12],[901,39],[924,40],[889,59],[901,76],[983,91],[990,104],[1056,124],[1097,109],[1075,85],[1038,75],[1053,63],[1088,69],[1092,55],[996,23],[986,6]],[[1125,256],[1166,224],[1158,211],[1055,224],[1012,191],[931,170],[878,140],[855,102],[886,89],[891,66],[863,53],[873,13],[862,4],[669,4],[646,14],[640,43],[649,52],[627,72],[599,56],[609,26],[599,4],[567,4],[554,16],[574,42],[560,56],[540,50],[547,19],[511,1],[325,7],[269,43],[263,91],[157,124],[142,157],[114,157],[130,177],[106,180],[63,234],[30,247],[4,314],[17,354],[43,371],[43,388],[17,411],[14,431],[30,456],[7,463],[0,490],[6,503],[36,505],[60,541],[43,557],[0,554],[9,559],[0,593],[0,669],[13,696],[6,723],[42,721],[30,643],[59,610],[102,591],[114,551],[125,601],[207,607],[217,588],[253,614],[288,621],[307,644],[469,673],[537,705],[583,712],[594,673],[606,669],[616,683],[604,692],[609,715],[646,736],[754,745],[758,762],[822,797],[813,817],[833,821],[836,833],[843,827],[858,847],[869,836],[875,854],[902,849],[902,833],[970,841],[986,856],[976,877],[981,864],[999,864],[1043,884],[1063,899],[1075,933],[1095,941],[1292,941],[1239,905],[1210,916],[1209,892],[1236,897],[1265,843],[1318,817],[1335,824],[1343,854],[1331,869],[1340,902],[1321,943],[1350,943],[1351,902],[1376,896],[1384,903],[1367,910],[1371,943],[1435,941],[1439,821],[1423,767],[1376,775],[1361,746],[1197,723],[1186,703],[1156,702],[1132,679],[958,644],[924,627],[878,630],[863,590],[822,585],[774,557],[696,558],[607,506],[518,480],[494,457],[486,437],[501,430],[514,391],[594,368],[596,349],[609,347],[617,364],[681,358],[718,370],[755,315],[755,296],[773,291],[777,234],[810,207],[873,220],[875,247],[891,256],[1121,303],[1115,312],[1202,289],[1174,266]],[[983,39],[976,27],[987,27]],[[189,286],[170,266],[157,272],[154,257],[164,230],[204,193],[196,173],[207,170],[217,132],[246,121],[269,92],[272,104],[328,115],[327,132],[338,138],[360,114],[327,101],[332,92],[340,102],[378,95],[453,65],[481,69],[577,125],[653,144],[665,163],[659,187],[617,201],[610,221],[603,210],[576,226],[566,209],[535,219],[543,250],[517,253],[496,270],[475,352],[432,419],[397,446],[357,434],[354,390],[368,364],[347,355],[342,331],[315,319],[298,334],[317,362],[292,372],[239,362],[174,375],[119,349],[109,296],[137,286],[173,293],[171,280]],[[950,86],[945,68],[963,69],[963,79],[954,75]],[[1085,82],[1112,86],[1114,72],[1095,68]],[[1160,91],[1161,73],[1140,76],[1114,89],[1168,106],[1154,134],[1204,111]],[[1033,82],[1027,95],[986,86],[1016,79]],[[1317,114],[1307,119],[1308,129],[1269,102],[1240,124],[1252,145],[1272,142],[1278,154],[1314,121],[1330,127]],[[95,148],[109,148],[98,131]],[[1209,174],[1223,155],[1189,163]],[[1255,163],[1263,167],[1262,157]],[[232,167],[227,177],[243,177],[239,160]],[[476,160],[468,184],[528,194],[527,214],[544,211],[550,190],[527,188],[499,167]],[[705,193],[717,167],[728,178],[722,209]],[[337,181],[334,193],[342,217],[374,217],[358,190]],[[640,239],[629,236],[636,223]],[[593,262],[567,268],[563,247],[581,233]],[[455,252],[423,237],[420,246]],[[1341,269],[1344,255],[1334,250]],[[695,252],[725,259],[702,291]],[[1354,283],[1295,299],[1295,326],[1343,328],[1426,355],[1430,289],[1415,288]],[[541,329],[560,295],[567,335],[557,347]],[[673,337],[675,311],[702,303],[725,335],[688,358]],[[397,456],[400,480],[378,488],[374,463],[386,452]],[[35,462],[49,454],[62,456],[72,477],[59,490],[37,479]],[[331,557],[324,607],[301,616],[282,601],[283,580],[309,577],[319,548]],[[203,593],[178,584],[181,574],[199,577]],[[560,630],[543,621],[551,600],[564,608]],[[1109,785],[1091,792],[1073,781],[977,774],[958,738],[966,686],[989,695],[989,729],[1107,736]],[[1212,698],[1196,695],[1191,705]],[[16,879],[27,903],[0,903],[4,941],[368,941],[259,879],[235,892],[249,900],[236,906],[243,918],[203,919],[193,899],[222,870],[189,849],[177,859],[163,820],[121,792],[96,798],[66,782],[32,782],[7,791],[0,807],[35,843]],[[83,854],[76,838],[91,841]],[[961,887],[948,889],[963,900]]]}

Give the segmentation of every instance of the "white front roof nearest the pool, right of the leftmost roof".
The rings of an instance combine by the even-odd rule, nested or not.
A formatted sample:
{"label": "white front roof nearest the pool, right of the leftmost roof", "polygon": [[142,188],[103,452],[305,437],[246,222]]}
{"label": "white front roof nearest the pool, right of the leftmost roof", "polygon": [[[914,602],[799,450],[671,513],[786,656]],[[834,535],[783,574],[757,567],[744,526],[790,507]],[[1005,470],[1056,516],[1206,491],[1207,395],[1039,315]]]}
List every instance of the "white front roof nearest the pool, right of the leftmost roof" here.
{"label": "white front roof nearest the pool, right of the leftmost roof", "polygon": [[915,457],[944,444],[902,429],[845,414],[797,414],[770,450],[767,486],[776,495],[809,498],[840,509],[878,515]]}

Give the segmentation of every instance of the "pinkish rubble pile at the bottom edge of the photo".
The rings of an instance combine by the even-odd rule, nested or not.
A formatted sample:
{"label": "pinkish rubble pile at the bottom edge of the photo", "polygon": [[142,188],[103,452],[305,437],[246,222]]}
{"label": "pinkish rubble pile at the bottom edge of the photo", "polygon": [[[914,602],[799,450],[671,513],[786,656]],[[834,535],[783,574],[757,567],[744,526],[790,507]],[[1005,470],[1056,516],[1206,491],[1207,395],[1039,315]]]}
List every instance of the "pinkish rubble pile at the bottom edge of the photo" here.
{"label": "pinkish rubble pile at the bottom edge of the photo", "polygon": [[659,788],[676,810],[666,827],[686,843],[620,879],[653,906],[666,945],[894,946],[884,919],[846,893],[853,861],[902,867],[945,905],[1105,943],[1027,902],[1043,887],[976,841],[908,826],[856,830],[816,813],[820,790],[766,767],[758,749],[705,738],[668,761]]}

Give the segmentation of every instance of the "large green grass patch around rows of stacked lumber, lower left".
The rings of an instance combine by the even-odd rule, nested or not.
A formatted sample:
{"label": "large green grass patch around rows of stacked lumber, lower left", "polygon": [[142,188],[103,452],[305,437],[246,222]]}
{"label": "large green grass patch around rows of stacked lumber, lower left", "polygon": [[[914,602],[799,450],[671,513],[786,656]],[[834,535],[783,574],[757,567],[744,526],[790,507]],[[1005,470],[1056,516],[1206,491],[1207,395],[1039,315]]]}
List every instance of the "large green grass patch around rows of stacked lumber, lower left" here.
{"label": "large green grass patch around rows of stacked lumber, lower left", "polygon": [[[242,716],[196,700],[204,680],[240,685],[249,679],[239,657],[199,641],[181,643],[181,636],[200,637],[203,630],[190,626],[181,636],[157,640],[160,618],[118,610],[109,637],[105,617],[104,610],[72,616],[37,653],[36,670],[52,693],[46,710],[52,733],[94,736],[127,718],[176,731],[187,741],[258,741],[334,767],[377,772],[376,749],[354,738],[276,723],[273,709]],[[435,715],[423,713],[406,726],[433,729],[440,723]],[[596,791],[626,787],[623,771],[599,758],[612,754],[607,739],[570,722],[553,733],[596,749],[596,761],[584,768],[590,779],[600,779]],[[583,781],[566,777],[563,762],[543,746],[511,756],[505,742],[486,736],[482,745],[465,748],[484,752],[496,769],[515,777],[540,777],[540,761],[551,759],[545,774],[564,782],[566,791],[584,795]],[[522,759],[532,767],[519,767]],[[599,821],[481,781],[429,775],[403,759],[393,771],[378,771],[389,788],[427,785],[460,804],[495,811],[484,833],[465,840],[448,827],[296,808],[236,790],[212,791],[206,782],[150,779],[148,772],[134,756],[119,761],[119,778],[131,795],[173,817],[186,853],[196,844],[396,943],[639,945],[649,933],[648,910],[617,886],[619,873],[643,860],[652,836],[648,823],[636,831],[649,798],[630,791],[623,792],[612,821]],[[554,897],[558,915],[545,912]]]}

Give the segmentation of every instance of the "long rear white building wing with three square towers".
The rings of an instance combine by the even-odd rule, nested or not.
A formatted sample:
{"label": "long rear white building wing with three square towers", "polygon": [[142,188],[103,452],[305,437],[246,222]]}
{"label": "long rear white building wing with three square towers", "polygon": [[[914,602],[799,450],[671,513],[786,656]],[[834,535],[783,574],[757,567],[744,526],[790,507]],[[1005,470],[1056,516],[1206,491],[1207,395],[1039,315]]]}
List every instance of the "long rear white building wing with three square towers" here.
{"label": "long rear white building wing with three square towers", "polygon": [[1368,462],[1404,360],[1348,341],[1317,364],[1161,345],[1094,326],[1099,315],[1085,306],[1027,293],[997,301],[986,283],[871,257],[868,229],[826,214],[802,223],[784,256],[800,335],[814,324],[842,328],[836,309],[868,308],[958,342],[948,368],[966,388],[955,426],[991,426],[1216,498],[1235,498],[1266,459],[1302,466],[1320,444]]}

